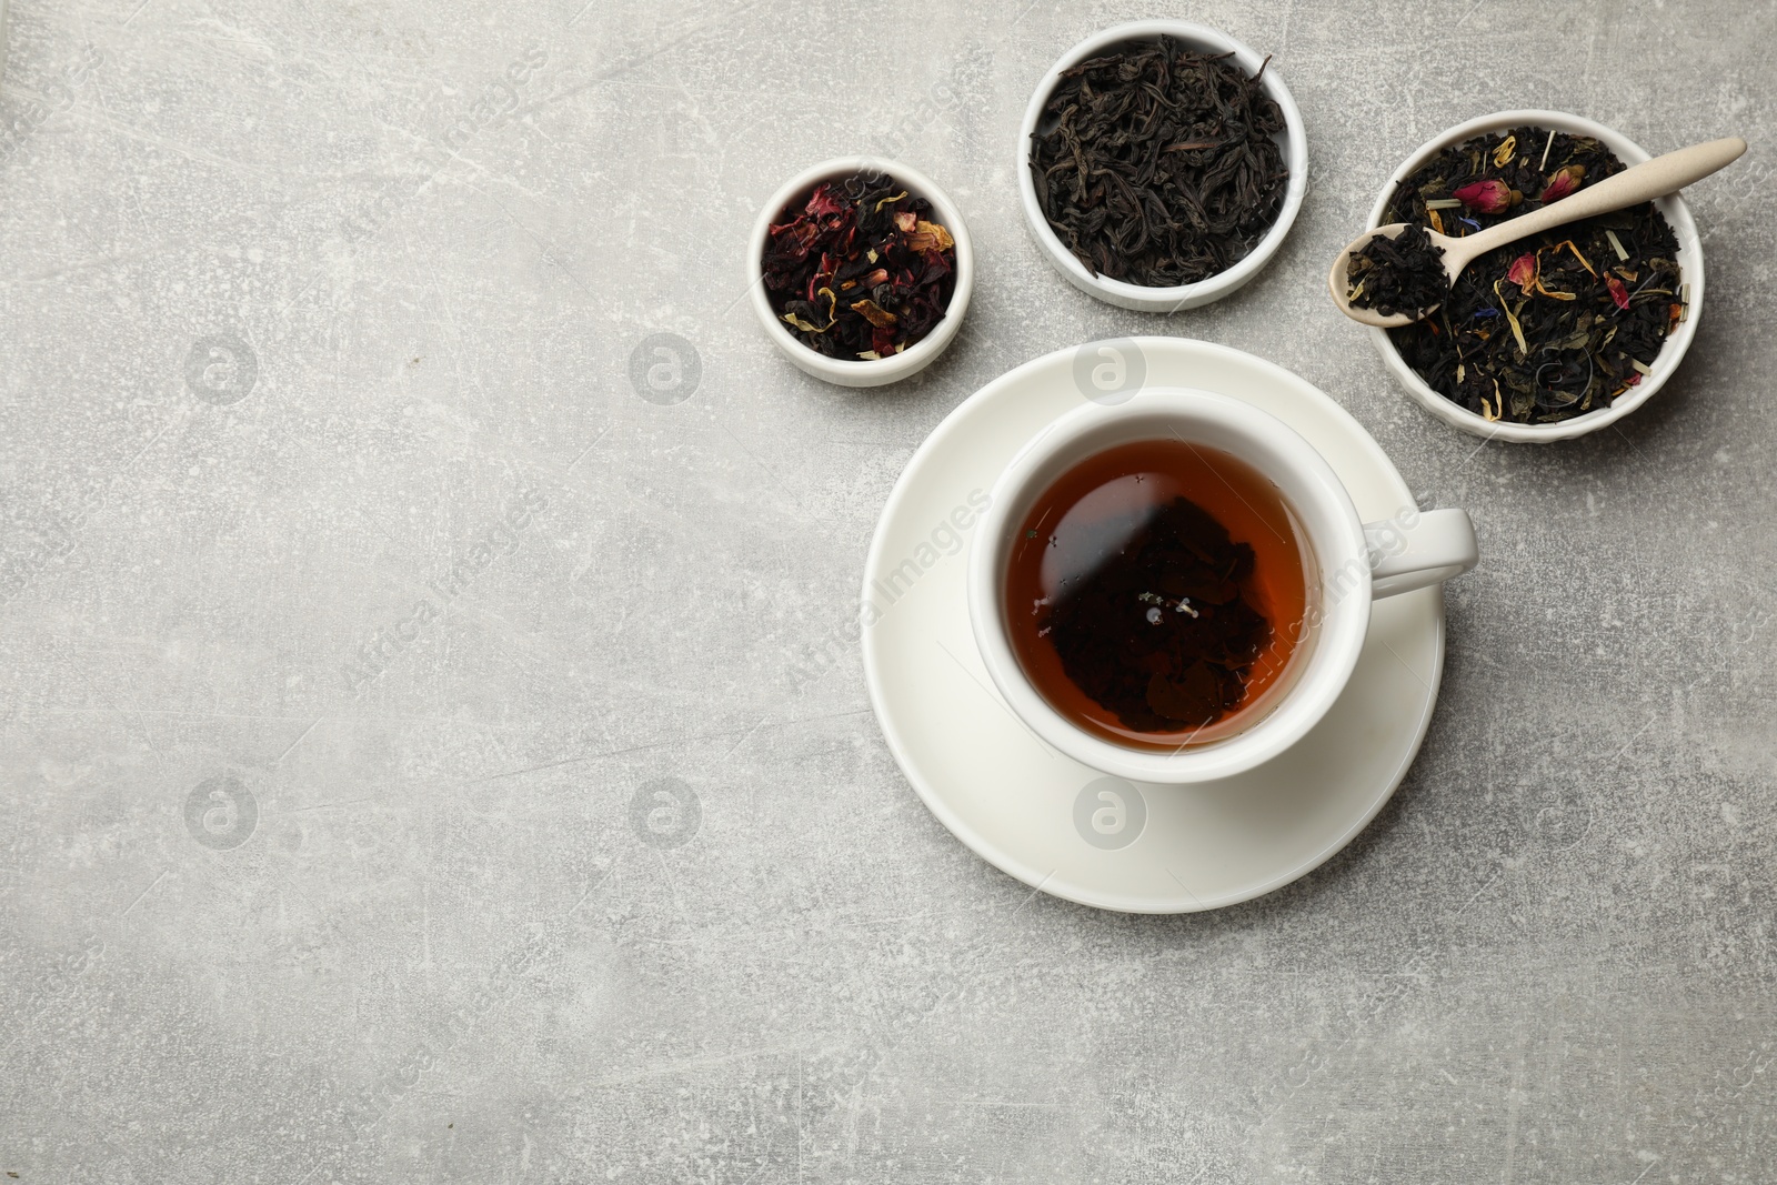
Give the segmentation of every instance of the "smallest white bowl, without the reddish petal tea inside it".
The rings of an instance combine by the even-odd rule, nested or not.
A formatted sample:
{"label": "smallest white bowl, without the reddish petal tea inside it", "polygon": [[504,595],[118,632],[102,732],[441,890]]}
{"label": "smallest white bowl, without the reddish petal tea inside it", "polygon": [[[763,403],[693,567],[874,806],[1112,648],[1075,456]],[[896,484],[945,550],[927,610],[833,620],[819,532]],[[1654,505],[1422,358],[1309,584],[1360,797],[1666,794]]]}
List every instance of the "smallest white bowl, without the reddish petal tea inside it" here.
{"label": "smallest white bowl, without the reddish petal tea inside it", "polygon": [[[904,185],[913,197],[924,197],[931,203],[938,224],[956,240],[956,290],[951,293],[951,302],[944,306],[944,320],[901,354],[885,359],[835,359],[805,346],[778,320],[764,284],[766,240],[771,236],[773,224],[787,220],[789,204],[798,203],[800,206],[805,203],[816,185],[849,178],[864,171],[883,172]],[[885,156],[841,156],[785,181],[784,188],[773,194],[771,201],[759,211],[759,222],[753,224],[753,236],[746,247],[746,282],[750,286],[753,313],[759,314],[759,323],[764,325],[766,336],[784,352],[784,357],[816,378],[825,378],[841,387],[880,387],[926,370],[956,341],[956,334],[963,329],[963,314],[968,311],[968,297],[976,288],[976,249],[968,242],[968,227],[963,226],[963,215],[956,208],[956,203],[924,172]]]}

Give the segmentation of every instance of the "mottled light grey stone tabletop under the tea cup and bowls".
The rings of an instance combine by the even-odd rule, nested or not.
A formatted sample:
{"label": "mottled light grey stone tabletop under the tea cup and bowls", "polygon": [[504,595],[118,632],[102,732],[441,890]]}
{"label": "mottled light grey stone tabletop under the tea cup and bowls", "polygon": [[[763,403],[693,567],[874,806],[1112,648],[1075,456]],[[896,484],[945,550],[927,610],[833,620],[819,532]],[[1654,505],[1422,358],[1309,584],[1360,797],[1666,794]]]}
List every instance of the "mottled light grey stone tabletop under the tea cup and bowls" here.
{"label": "mottled light grey stone tabletop under the tea cup and bowls", "polygon": [[[1196,5],[1276,55],[1311,192],[1153,318],[1038,256],[1013,139],[1157,12],[14,2],[7,1180],[1772,1180],[1777,14]],[[1692,194],[1676,382],[1546,449],[1411,405],[1320,288],[1395,162],[1516,105],[1752,142]],[[737,275],[784,178],[867,149],[945,185],[979,286],[851,393]],[[926,433],[1137,332],[1304,375],[1484,551],[1393,803],[1194,917],[997,872],[857,647],[805,677]]]}

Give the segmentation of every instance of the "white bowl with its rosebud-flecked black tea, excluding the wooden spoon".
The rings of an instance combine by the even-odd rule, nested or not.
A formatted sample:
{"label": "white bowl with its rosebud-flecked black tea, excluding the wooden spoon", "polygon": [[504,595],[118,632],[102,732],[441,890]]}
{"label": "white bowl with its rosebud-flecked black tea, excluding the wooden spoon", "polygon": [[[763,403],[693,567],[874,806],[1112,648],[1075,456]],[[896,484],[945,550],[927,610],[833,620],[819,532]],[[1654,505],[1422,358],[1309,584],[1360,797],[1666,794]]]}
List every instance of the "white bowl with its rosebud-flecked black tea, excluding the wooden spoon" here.
{"label": "white bowl with its rosebud-flecked black tea, excluding the wooden spoon", "polygon": [[[1461,238],[1644,160],[1633,140],[1578,115],[1484,115],[1409,156],[1368,224]],[[1507,243],[1470,263],[1425,320],[1368,332],[1439,419],[1487,439],[1550,442],[1653,398],[1690,348],[1701,304],[1697,224],[1669,194]]]}

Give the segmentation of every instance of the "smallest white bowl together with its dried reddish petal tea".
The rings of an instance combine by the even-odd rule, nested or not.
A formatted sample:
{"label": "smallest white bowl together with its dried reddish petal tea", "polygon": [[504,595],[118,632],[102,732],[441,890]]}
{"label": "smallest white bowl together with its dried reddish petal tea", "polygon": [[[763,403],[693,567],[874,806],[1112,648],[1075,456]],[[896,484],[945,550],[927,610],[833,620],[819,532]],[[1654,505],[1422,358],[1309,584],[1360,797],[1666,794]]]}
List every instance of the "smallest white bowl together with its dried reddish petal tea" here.
{"label": "smallest white bowl together with its dried reddish petal tea", "polygon": [[878,156],[791,178],[761,211],[748,259],[766,334],[844,387],[929,366],[961,330],[976,282],[956,204],[917,169]]}

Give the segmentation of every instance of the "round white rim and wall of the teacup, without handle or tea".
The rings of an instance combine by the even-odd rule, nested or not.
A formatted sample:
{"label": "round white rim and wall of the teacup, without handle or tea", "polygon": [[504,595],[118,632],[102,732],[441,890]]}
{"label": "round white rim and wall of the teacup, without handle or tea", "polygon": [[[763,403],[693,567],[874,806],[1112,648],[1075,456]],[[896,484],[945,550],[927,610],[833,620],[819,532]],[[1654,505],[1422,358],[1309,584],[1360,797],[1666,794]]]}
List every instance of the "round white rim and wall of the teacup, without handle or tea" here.
{"label": "round white rim and wall of the teacup, without handle or tea", "polygon": [[[1310,668],[1283,702],[1249,728],[1187,750],[1137,750],[1105,741],[1070,721],[1031,684],[1013,650],[1002,611],[1006,547],[1015,517],[1032,496],[1040,473],[1084,439],[1127,418],[1214,421],[1246,433],[1278,457],[1276,471],[1310,492],[1326,522],[1343,538],[1310,537],[1322,585],[1333,569],[1352,576],[1336,599],[1326,599]],[[1080,451],[1079,458],[1089,453]],[[1247,458],[1249,460],[1249,458]],[[1267,473],[1267,476],[1272,476]],[[1299,501],[1299,490],[1292,490]],[[1038,490],[1040,492],[1040,490]],[[1306,506],[1297,506],[1306,517]],[[1306,529],[1306,526],[1304,526]],[[1336,549],[1338,554],[1331,554]],[[1358,563],[1352,565],[1351,558]],[[1326,597],[1326,593],[1324,593]],[[1327,460],[1294,428],[1240,400],[1192,387],[1148,387],[1118,405],[1088,403],[1050,421],[1000,473],[968,553],[968,618],[981,661],[995,688],[1043,743],[1102,773],[1134,782],[1192,783],[1244,773],[1294,746],[1333,707],[1356,670],[1370,624],[1370,567],[1358,508]]]}

